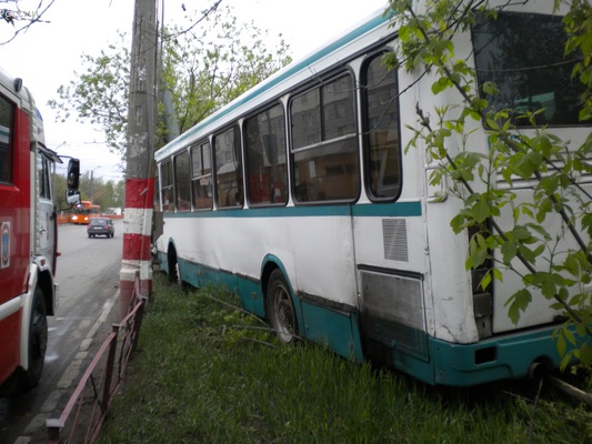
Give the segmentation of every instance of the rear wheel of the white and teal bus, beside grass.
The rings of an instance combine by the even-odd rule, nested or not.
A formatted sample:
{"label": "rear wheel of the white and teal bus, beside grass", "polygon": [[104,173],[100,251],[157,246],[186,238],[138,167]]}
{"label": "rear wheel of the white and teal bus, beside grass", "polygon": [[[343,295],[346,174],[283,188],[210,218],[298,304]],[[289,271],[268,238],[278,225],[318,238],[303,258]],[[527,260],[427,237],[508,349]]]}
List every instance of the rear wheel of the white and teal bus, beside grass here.
{"label": "rear wheel of the white and teal bus, beside grass", "polygon": [[297,319],[290,289],[280,270],[271,273],[267,291],[267,312],[271,327],[283,344],[297,342]]}

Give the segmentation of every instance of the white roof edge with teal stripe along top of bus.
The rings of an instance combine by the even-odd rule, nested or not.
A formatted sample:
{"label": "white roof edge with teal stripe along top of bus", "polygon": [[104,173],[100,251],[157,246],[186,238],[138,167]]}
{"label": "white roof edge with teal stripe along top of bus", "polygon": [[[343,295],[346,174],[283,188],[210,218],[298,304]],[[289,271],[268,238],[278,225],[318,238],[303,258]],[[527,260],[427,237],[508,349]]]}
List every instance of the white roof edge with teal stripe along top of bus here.
{"label": "white roof edge with teal stripe along top of bus", "polygon": [[178,149],[198,141],[208,135],[214,128],[222,127],[238,119],[253,107],[280,97],[285,91],[294,88],[299,82],[309,79],[311,72],[317,74],[322,73],[327,67],[334,65],[335,57],[339,60],[340,58],[355,54],[361,48],[368,46],[368,42],[363,38],[369,33],[379,31],[379,36],[373,37],[373,40],[377,42],[391,38],[394,33],[388,27],[391,18],[392,16],[384,14],[384,9],[373,12],[350,30],[333,38],[302,59],[282,68],[232,102],[222,107],[201,122],[198,122],[194,127],[158,150],[154,154],[155,160],[160,161],[174,153]]}

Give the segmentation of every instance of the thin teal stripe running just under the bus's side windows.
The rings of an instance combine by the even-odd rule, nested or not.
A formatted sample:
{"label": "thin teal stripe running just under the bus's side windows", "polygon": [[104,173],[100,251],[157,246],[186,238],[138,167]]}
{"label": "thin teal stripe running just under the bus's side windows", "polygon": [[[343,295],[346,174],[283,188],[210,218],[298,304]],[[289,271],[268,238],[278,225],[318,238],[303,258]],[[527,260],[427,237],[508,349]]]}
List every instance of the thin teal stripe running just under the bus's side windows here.
{"label": "thin teal stripe running just under the bus's side windows", "polygon": [[224,209],[218,211],[164,212],[164,218],[417,218],[421,216],[421,202],[358,205],[268,206],[262,209]]}

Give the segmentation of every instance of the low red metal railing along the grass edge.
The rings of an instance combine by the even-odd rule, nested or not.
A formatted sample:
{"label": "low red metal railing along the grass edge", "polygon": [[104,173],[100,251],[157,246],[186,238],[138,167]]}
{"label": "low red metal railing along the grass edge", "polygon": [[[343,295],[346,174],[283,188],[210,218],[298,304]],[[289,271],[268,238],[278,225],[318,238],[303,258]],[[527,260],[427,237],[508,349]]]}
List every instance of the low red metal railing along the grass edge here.
{"label": "low red metal railing along the grass edge", "polygon": [[94,442],[138,344],[146,302],[147,297],[140,294],[139,273],[136,273],[128,315],[113,324],[60,417],[46,421],[49,444]]}

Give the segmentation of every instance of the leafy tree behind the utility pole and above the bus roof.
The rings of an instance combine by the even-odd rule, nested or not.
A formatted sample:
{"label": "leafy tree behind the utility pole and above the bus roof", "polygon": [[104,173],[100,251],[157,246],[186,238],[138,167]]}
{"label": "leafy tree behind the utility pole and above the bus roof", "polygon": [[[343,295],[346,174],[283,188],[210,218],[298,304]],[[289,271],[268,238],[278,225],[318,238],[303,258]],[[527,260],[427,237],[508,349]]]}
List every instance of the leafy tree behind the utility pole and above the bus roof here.
{"label": "leafy tree behind the utility pole and above the bus roof", "polygon": [[[201,17],[182,28],[162,30],[160,89],[172,92],[179,130],[183,132],[291,61],[289,47],[280,40],[269,52],[267,32],[239,23],[232,10],[218,8],[188,13]],[[197,30],[200,32],[198,33]],[[110,148],[124,154],[128,117],[130,51],[126,36],[99,56],[82,56],[83,71],[58,89],[49,105],[60,119],[102,127]],[[168,141],[162,105],[159,105],[157,144]]]}

